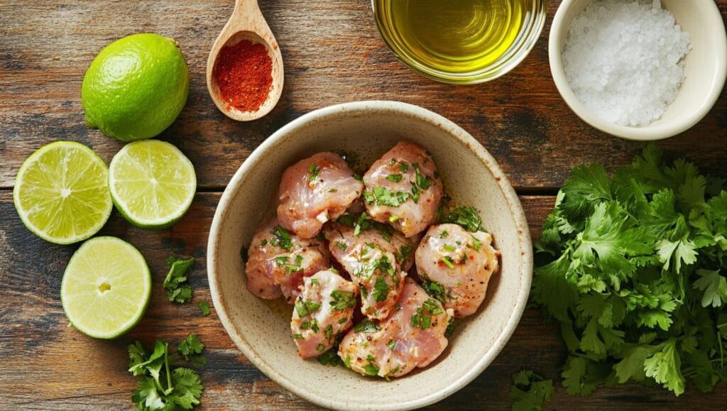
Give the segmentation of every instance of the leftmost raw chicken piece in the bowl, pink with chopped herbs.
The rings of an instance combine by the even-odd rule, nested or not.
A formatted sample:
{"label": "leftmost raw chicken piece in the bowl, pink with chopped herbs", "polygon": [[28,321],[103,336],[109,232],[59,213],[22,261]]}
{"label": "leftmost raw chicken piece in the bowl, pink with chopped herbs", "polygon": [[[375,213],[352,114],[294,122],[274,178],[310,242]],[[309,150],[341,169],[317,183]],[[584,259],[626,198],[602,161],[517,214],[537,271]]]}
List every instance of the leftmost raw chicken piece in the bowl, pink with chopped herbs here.
{"label": "leftmost raw chicken piece in the bowl, pink with chopped herbs", "polygon": [[318,239],[300,239],[272,218],[252,237],[245,264],[247,289],[268,300],[284,295],[292,304],[303,278],[329,266],[324,244]]}

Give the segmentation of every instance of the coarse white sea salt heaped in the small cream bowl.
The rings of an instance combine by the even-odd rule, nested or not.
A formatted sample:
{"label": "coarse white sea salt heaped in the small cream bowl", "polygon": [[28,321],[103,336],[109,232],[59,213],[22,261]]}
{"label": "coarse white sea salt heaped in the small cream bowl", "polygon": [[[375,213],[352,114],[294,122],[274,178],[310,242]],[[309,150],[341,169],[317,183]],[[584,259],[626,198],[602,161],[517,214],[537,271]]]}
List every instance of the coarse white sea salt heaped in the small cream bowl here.
{"label": "coarse white sea salt heaped in the small cream bowl", "polygon": [[571,23],[563,66],[589,111],[643,126],[677,97],[690,49],[688,34],[661,1],[596,0]]}

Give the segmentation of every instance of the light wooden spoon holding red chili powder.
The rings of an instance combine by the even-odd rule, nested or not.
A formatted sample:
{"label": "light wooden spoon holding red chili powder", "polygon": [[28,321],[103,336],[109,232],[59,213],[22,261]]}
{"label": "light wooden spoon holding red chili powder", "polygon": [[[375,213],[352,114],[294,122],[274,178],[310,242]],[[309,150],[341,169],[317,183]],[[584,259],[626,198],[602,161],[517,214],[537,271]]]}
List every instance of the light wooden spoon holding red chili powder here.
{"label": "light wooden spoon holding red chili powder", "polygon": [[[242,40],[264,44],[270,59],[273,60],[273,85],[270,87],[268,99],[260,105],[257,111],[239,111],[222,100],[217,79],[212,74],[214,63],[217,62],[217,56],[220,54],[222,47],[234,46]],[[220,36],[217,36],[217,40],[212,45],[212,50],[209,51],[209,57],[207,57],[207,89],[212,101],[230,119],[237,121],[260,119],[260,117],[270,113],[280,100],[283,91],[283,78],[283,56],[280,47],[278,47],[278,41],[273,36],[273,31],[270,31],[268,23],[265,22],[265,17],[262,17],[257,0],[236,0],[235,9],[232,16],[230,16],[230,20],[222,28]]]}

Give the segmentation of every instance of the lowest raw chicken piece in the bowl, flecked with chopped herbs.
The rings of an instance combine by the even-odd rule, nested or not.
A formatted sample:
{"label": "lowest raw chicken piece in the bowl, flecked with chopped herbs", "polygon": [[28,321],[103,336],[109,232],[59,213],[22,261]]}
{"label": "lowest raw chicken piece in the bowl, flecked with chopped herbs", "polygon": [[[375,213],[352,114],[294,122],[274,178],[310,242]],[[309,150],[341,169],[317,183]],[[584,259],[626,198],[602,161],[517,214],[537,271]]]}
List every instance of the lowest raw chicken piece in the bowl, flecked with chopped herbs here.
{"label": "lowest raw chicken piece in the bowl, flecked with chopped herbs", "polygon": [[447,346],[451,309],[442,308],[414,280],[405,280],[397,310],[377,324],[365,320],[343,338],[338,355],[363,375],[401,377],[426,367]]}

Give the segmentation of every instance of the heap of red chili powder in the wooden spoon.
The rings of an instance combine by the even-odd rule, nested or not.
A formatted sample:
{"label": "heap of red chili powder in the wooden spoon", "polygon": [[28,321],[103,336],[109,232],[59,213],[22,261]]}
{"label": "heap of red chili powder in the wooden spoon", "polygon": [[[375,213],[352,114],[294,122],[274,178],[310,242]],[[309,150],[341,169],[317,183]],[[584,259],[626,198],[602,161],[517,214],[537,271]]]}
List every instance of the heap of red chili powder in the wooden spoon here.
{"label": "heap of red chili powder in the wooden spoon", "polygon": [[273,86],[273,60],[262,44],[243,40],[225,46],[217,56],[212,74],[220,97],[239,111],[257,111]]}

